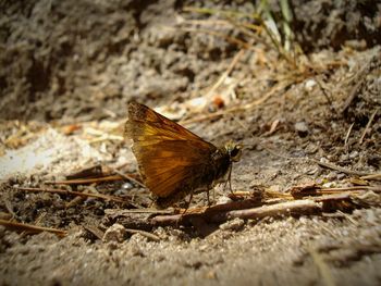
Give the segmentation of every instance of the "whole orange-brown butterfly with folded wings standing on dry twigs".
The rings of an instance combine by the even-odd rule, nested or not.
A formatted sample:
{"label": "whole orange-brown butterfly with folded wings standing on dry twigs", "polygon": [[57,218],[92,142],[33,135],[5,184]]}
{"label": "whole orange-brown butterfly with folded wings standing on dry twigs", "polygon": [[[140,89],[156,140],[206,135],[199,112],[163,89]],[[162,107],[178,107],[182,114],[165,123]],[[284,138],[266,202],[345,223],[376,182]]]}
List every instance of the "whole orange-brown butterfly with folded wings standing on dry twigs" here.
{"label": "whole orange-brown butterfly with folded wings standing on dry twigs", "polygon": [[148,107],[131,102],[125,135],[133,139],[145,185],[156,204],[167,208],[186,195],[207,191],[221,183],[241,159],[242,147],[233,142],[218,148]]}

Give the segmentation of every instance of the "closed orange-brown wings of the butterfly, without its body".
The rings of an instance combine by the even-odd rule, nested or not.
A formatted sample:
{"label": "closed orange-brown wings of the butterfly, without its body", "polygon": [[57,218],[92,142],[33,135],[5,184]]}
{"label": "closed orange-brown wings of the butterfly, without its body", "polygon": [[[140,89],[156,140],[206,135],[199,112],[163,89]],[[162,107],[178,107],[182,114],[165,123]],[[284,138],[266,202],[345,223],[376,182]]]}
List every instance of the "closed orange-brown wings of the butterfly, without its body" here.
{"label": "closed orange-brown wings of the butterfly, without its body", "polygon": [[197,176],[210,173],[210,156],[217,148],[146,105],[128,104],[125,133],[134,140],[145,184],[160,198],[192,190]]}

